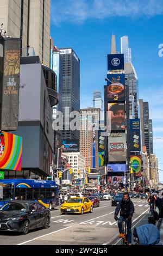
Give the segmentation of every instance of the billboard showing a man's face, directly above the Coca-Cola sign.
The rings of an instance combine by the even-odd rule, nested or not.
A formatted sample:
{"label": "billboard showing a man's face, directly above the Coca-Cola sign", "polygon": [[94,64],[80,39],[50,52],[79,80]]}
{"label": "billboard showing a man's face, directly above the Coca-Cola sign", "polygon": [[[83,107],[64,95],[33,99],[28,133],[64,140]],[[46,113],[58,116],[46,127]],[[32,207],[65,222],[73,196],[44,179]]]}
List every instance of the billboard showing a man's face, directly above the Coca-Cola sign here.
{"label": "billboard showing a man's face, directly above the Coca-Cola sign", "polygon": [[108,103],[108,121],[111,131],[126,130],[126,114],[124,103]]}

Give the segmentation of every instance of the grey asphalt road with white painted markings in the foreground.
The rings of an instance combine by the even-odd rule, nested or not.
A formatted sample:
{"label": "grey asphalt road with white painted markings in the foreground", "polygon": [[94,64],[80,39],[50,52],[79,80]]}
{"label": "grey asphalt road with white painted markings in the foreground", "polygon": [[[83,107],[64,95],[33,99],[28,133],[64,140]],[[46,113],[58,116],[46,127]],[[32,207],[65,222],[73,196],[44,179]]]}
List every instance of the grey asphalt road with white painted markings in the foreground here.
{"label": "grey asphalt road with white painted markings in the foreground", "polygon": [[[135,206],[134,225],[147,222],[147,200],[132,199]],[[101,201],[93,212],[84,215],[60,214],[60,208],[51,211],[48,229],[35,229],[27,235],[0,232],[1,245],[115,245],[120,244],[118,226],[114,220],[115,206],[111,200]]]}

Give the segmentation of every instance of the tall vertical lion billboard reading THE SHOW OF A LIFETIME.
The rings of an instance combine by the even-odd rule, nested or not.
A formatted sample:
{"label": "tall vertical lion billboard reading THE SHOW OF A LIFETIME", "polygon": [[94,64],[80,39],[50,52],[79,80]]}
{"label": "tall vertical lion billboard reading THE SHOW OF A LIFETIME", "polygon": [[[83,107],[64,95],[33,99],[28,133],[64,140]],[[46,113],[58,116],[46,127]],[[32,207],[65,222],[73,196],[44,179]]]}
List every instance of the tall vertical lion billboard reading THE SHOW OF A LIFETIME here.
{"label": "tall vertical lion billboard reading THE SHOW OF A LIFETIME", "polygon": [[[0,40],[3,45],[3,75],[1,89],[0,130],[13,131],[18,127],[18,100],[20,87],[20,39]],[[2,53],[1,53],[2,54]],[[1,67],[2,68],[2,67]]]}

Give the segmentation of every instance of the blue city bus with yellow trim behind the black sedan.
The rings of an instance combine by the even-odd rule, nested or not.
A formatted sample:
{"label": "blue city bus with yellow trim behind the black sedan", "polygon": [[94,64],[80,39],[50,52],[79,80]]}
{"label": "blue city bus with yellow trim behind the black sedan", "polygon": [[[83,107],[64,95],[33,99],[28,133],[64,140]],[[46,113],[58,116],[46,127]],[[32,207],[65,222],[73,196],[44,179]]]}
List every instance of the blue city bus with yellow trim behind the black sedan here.
{"label": "blue city bus with yellow trim behind the black sedan", "polygon": [[59,205],[59,186],[48,180],[2,179],[0,208],[10,200],[36,200],[52,210]]}

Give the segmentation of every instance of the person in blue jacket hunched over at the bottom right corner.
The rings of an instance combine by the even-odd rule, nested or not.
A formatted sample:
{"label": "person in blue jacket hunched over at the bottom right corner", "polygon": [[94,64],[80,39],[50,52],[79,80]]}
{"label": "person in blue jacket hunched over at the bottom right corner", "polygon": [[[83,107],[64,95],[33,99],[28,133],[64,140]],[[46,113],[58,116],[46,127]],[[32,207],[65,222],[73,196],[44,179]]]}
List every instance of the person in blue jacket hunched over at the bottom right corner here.
{"label": "person in blue jacket hunched over at the bottom right corner", "polygon": [[153,224],[145,224],[133,230],[135,245],[162,245],[160,232]]}

